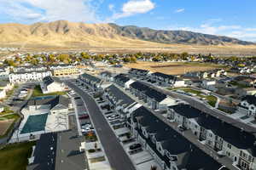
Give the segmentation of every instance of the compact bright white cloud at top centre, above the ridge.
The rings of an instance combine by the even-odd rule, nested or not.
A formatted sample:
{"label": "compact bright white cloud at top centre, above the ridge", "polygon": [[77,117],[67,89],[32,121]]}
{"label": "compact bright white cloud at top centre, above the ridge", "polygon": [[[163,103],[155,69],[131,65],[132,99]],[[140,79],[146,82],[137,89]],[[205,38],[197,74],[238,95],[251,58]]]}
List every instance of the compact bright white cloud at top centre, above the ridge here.
{"label": "compact bright white cloud at top centre, above the ridge", "polygon": [[114,13],[108,20],[118,20],[135,14],[145,14],[155,7],[151,0],[130,0],[123,4],[120,13]]}

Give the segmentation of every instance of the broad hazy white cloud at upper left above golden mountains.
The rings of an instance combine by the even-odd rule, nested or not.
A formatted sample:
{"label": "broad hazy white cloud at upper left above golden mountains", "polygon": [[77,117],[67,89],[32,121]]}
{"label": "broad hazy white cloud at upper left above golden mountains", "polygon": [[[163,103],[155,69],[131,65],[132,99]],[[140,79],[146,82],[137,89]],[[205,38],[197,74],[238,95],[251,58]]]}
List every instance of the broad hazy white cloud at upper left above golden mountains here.
{"label": "broad hazy white cloud at upper left above golden mountains", "polygon": [[102,0],[0,0],[0,10],[17,21],[71,20],[95,22],[96,4]]}

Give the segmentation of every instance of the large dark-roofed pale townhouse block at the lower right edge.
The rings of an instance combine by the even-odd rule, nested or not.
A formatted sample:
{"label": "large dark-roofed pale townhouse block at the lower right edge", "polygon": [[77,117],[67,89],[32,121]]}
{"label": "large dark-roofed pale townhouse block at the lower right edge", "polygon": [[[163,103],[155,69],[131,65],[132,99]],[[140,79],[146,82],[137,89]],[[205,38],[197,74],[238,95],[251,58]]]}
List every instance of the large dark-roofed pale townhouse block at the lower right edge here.
{"label": "large dark-roofed pale townhouse block at the lower right edge", "polygon": [[168,107],[167,117],[178,127],[190,130],[202,144],[215,150],[219,156],[228,156],[235,167],[256,169],[256,138],[227,122],[210,116],[191,105]]}

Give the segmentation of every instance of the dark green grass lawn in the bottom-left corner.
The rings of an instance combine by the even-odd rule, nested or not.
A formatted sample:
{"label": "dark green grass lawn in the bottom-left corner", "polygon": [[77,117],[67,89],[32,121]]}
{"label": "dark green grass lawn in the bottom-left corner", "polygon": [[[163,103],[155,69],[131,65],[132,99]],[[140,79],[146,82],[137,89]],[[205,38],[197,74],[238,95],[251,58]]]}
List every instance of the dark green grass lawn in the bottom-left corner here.
{"label": "dark green grass lawn in the bottom-left corner", "polygon": [[0,169],[26,170],[27,158],[32,155],[35,142],[10,144],[0,150]]}

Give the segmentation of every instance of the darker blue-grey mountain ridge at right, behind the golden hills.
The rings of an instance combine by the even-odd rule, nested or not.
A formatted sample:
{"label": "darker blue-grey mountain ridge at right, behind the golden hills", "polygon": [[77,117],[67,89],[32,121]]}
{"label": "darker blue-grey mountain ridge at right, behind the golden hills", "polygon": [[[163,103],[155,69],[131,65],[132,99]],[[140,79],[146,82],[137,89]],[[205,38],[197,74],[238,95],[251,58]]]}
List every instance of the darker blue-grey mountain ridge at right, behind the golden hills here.
{"label": "darker blue-grey mountain ridge at right, behind the golden hills", "polygon": [[[235,43],[240,45],[255,44],[255,42],[242,41],[234,37],[217,36],[217,35],[204,34],[204,33],[194,32],[194,31],[154,30],[148,27],[118,26],[113,23],[110,23],[109,25],[119,29],[119,33],[124,36],[137,37],[139,39],[152,41],[152,42],[201,44],[201,45],[218,45],[218,44],[224,45],[225,42],[230,42],[230,43]],[[128,34],[125,34],[127,32]],[[140,37],[140,35],[138,34],[144,37]],[[148,35],[151,37],[147,37]]]}

